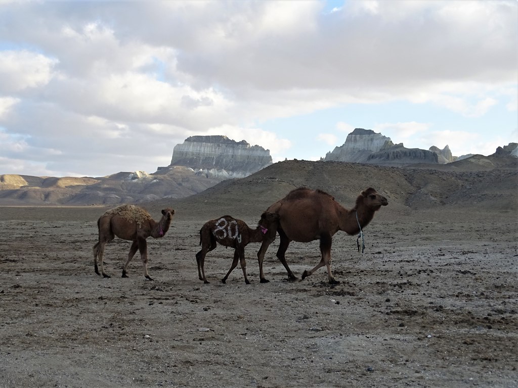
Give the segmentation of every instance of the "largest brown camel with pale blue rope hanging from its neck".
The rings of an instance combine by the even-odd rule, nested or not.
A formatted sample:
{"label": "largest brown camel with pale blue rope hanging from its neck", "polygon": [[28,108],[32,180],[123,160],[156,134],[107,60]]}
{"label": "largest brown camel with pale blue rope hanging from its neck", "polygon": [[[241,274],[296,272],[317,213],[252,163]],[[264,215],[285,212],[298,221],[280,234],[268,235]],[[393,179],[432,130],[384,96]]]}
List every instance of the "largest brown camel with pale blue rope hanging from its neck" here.
{"label": "largest brown camel with pale blue rope hanging from its neck", "polygon": [[[267,212],[279,214],[279,221],[270,228],[277,228],[280,244],[277,258],[286,268],[290,281],[297,277],[286,263],[284,253],[292,241],[307,243],[320,240],[322,257],[312,270],[304,271],[302,278],[313,274],[322,266],[327,267],[329,283],[339,283],[331,273],[331,243],[333,235],[342,230],[348,234],[362,232],[362,229],[374,217],[381,206],[389,204],[387,199],[369,187],[356,198],[355,206],[348,210],[342,207],[328,193],[322,190],[311,190],[305,187],[292,190],[286,197],[272,204]],[[363,232],[362,232],[363,233]],[[263,260],[268,246],[275,240],[274,231],[268,234],[268,240],[263,240],[257,252],[259,261],[259,276],[262,283],[268,282],[263,273]],[[271,237],[273,236],[273,237]]]}

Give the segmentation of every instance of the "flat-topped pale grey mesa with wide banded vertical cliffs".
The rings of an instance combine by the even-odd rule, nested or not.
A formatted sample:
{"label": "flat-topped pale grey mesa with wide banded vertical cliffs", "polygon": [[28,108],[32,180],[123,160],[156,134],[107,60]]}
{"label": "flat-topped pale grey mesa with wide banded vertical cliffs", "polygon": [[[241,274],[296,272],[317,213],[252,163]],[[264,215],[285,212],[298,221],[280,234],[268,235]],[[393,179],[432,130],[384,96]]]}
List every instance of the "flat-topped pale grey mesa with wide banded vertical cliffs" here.
{"label": "flat-topped pale grey mesa with wide banded vertical cliffs", "polygon": [[[172,166],[222,178],[244,177],[271,165],[270,151],[226,136],[191,136],[172,151]],[[159,168],[159,170],[162,168]]]}

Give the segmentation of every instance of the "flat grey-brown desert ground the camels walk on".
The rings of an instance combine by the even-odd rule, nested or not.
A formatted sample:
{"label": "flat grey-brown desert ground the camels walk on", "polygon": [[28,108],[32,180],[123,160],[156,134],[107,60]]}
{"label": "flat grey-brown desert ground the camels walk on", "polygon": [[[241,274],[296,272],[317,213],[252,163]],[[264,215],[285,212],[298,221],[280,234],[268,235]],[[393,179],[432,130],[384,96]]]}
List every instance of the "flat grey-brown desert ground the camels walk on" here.
{"label": "flat grey-brown desert ground the camels walk on", "polygon": [[[382,208],[356,236],[333,240],[325,267],[287,281],[266,254],[260,283],[249,244],[226,284],[232,249],[209,252],[198,279],[198,231],[218,214],[180,208],[121,278],[130,243],[107,245],[111,278],[94,273],[104,207],[0,207],[1,387],[516,387],[516,213]],[[150,208],[158,219],[159,208]],[[227,212],[222,208],[221,215]],[[238,217],[238,215],[240,217]],[[250,226],[259,214],[239,209]],[[292,243],[300,277],[318,242]]]}

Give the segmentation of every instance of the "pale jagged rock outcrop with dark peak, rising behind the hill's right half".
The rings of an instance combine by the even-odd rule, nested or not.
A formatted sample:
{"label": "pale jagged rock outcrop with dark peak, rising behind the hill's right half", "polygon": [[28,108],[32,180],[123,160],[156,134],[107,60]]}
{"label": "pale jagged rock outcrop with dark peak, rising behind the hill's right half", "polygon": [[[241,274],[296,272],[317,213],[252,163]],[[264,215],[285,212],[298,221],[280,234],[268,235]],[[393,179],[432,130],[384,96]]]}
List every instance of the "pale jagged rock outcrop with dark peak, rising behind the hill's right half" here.
{"label": "pale jagged rock outcrop with dark peak, rising behind the hill's right half", "polygon": [[451,163],[453,156],[447,145],[440,150],[431,146],[429,150],[406,148],[403,143],[394,144],[391,138],[371,129],[356,128],[349,133],[346,142],[328,152],[324,161],[369,163],[383,166],[408,166],[414,163]]}

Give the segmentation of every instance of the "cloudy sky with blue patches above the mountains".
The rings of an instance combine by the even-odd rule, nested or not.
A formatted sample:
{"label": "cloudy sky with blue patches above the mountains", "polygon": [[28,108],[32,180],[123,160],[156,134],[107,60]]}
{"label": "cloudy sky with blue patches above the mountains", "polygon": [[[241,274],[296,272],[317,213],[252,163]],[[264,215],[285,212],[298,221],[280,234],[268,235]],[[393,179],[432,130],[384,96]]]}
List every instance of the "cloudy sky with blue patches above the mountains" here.
{"label": "cloudy sky with blue patches above the mountains", "polygon": [[518,142],[511,1],[0,0],[0,175],[156,171],[193,135],[317,160],[354,128]]}

